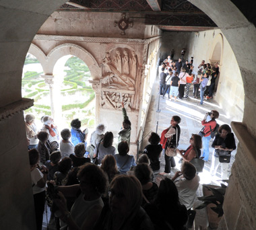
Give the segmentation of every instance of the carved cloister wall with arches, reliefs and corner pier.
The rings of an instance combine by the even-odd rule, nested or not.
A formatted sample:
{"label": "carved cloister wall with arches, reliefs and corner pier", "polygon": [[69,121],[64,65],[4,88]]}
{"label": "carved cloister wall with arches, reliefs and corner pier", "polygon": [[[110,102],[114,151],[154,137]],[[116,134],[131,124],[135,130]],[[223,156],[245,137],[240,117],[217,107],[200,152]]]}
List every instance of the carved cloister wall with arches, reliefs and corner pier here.
{"label": "carved cloister wall with arches, reliefs and corner pier", "polygon": [[71,54],[82,59],[91,71],[96,92],[96,124],[106,124],[106,130],[117,136],[123,122],[123,100],[132,124],[131,153],[135,154],[137,135],[150,102],[151,88],[144,88],[152,85],[145,65],[147,70],[151,65],[156,69],[161,32],[156,26],[143,25],[137,14],[128,15],[133,27],[121,35],[121,30],[114,26],[121,13],[55,12],[38,30],[30,50],[40,57],[47,75],[53,75],[55,63],[62,56]]}

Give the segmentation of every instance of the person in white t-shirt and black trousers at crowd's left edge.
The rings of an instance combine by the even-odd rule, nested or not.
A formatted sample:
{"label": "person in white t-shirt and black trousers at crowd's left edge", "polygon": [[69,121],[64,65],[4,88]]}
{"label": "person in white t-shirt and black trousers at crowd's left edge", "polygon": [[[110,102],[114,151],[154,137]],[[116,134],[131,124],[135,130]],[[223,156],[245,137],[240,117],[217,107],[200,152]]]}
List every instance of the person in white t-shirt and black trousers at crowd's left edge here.
{"label": "person in white t-shirt and black trousers at crowd's left edge", "polygon": [[32,179],[32,190],[34,196],[34,210],[36,214],[36,229],[42,229],[42,215],[44,213],[45,203],[45,184],[47,180],[48,169],[43,165],[38,167],[39,153],[36,149],[28,151],[30,159],[30,174]]}

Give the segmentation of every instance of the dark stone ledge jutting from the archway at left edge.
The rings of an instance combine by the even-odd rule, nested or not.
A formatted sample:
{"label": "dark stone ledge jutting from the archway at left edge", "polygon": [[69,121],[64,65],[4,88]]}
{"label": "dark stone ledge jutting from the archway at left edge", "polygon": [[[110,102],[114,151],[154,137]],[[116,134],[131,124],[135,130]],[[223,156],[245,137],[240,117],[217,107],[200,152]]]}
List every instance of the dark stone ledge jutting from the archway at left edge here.
{"label": "dark stone ledge jutting from the archway at left edge", "polygon": [[34,100],[29,98],[22,98],[17,102],[13,102],[3,108],[0,108],[0,122],[7,120],[15,114],[20,114],[23,110],[27,110],[34,105]]}

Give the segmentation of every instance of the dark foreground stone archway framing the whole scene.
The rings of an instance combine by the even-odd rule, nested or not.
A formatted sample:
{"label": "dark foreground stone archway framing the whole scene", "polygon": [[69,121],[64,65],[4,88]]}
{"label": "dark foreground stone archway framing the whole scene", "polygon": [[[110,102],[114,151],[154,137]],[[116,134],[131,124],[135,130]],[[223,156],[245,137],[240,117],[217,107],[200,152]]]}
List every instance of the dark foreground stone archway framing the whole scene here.
{"label": "dark foreground stone archway framing the whole scene", "polygon": [[[242,125],[244,137],[251,137],[250,142],[241,141],[238,147],[236,162],[232,168],[232,178],[227,196],[230,201],[225,203],[226,215],[222,219],[223,229],[255,229],[255,204],[256,198],[253,187],[256,183],[255,177],[255,153],[251,151],[250,143],[255,143],[256,136],[256,69],[254,56],[256,53],[255,37],[256,28],[247,21],[243,13],[228,0],[189,0],[193,5],[207,13],[222,30],[230,46],[234,50],[236,60],[243,76],[245,87],[245,111]],[[51,7],[49,4],[51,3]],[[31,104],[24,102],[21,95],[22,68],[24,57],[28,51],[31,40],[42,26],[43,22],[59,7],[65,3],[64,0],[20,1],[13,7],[13,1],[1,3],[3,14],[1,20],[3,30],[1,31],[1,52],[3,62],[0,73],[0,105],[1,105],[1,130],[3,133],[1,143],[1,184],[3,196],[1,197],[1,226],[3,229],[16,229],[18,226],[24,229],[33,229],[31,222],[34,213],[32,211],[31,178],[28,165],[26,149],[26,137],[24,135],[24,124],[22,110]],[[248,5],[250,7],[250,5]],[[17,17],[19,20],[17,20]],[[11,63],[11,64],[10,64]],[[238,130],[238,129],[237,129]],[[239,132],[239,130],[238,130]],[[11,137],[8,139],[7,137]],[[22,153],[22,154],[21,154]],[[16,159],[18,163],[13,162]],[[9,165],[12,168],[9,168]],[[20,167],[24,165],[24,167]],[[29,186],[30,185],[30,186]],[[15,200],[10,204],[9,192],[19,191],[15,194]],[[232,200],[231,200],[232,199]],[[27,203],[25,203],[25,201]],[[9,210],[6,212],[6,210]],[[230,211],[232,210],[232,211]],[[16,217],[16,221],[13,220]],[[235,221],[234,221],[235,220]]]}

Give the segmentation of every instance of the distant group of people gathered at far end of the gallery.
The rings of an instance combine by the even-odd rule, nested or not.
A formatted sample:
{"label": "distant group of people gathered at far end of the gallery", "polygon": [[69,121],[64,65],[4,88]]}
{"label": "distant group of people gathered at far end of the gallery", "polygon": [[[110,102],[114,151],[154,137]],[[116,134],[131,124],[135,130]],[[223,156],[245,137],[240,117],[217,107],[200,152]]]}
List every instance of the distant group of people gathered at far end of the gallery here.
{"label": "distant group of people gathered at far end of the gallery", "polygon": [[213,98],[219,74],[218,63],[212,67],[210,63],[205,64],[205,61],[202,61],[197,67],[198,71],[195,72],[193,56],[191,61],[185,61],[185,63],[183,63],[183,56],[177,62],[174,62],[170,56],[163,61],[159,75],[159,94],[164,98],[167,93],[169,100],[172,100],[174,95],[174,102],[176,102],[177,98],[179,100],[189,98],[189,89],[193,85],[193,98],[200,98],[199,105],[203,105],[203,100]]}

